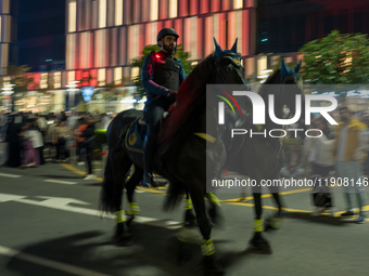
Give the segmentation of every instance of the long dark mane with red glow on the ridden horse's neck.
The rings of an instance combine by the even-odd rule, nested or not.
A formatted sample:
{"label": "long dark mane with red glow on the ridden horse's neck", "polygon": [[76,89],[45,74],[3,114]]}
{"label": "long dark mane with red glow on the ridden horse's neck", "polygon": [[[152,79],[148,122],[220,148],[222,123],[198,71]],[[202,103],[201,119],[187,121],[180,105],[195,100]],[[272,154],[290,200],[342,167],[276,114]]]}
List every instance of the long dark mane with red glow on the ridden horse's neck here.
{"label": "long dark mane with red glow on the ridden horse's neck", "polygon": [[[161,142],[187,133],[206,100],[206,83],[213,74],[214,53],[204,58],[186,78],[177,92],[176,107],[160,133]],[[187,127],[184,127],[187,126]]]}

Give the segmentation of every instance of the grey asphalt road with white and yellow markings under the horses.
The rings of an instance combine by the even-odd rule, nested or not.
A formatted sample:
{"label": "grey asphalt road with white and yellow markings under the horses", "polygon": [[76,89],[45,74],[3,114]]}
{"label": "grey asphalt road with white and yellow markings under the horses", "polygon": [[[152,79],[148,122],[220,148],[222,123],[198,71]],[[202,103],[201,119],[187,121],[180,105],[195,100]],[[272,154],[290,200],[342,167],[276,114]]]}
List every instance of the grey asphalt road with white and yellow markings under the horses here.
{"label": "grey asphalt road with white and yellow markings under the horses", "polygon": [[[99,166],[99,165],[97,165]],[[165,189],[141,189],[137,201],[143,218],[132,223],[135,244],[111,242],[115,220],[98,212],[100,179],[85,181],[81,167],[47,163],[39,168],[0,168],[0,275],[64,276],[203,275],[199,246],[187,245],[187,259],[177,255],[177,227],[182,206],[163,212]],[[99,171],[97,171],[99,173]],[[288,208],[282,228],[266,233],[272,254],[247,249],[253,205],[239,194],[219,194],[226,227],[213,228],[218,260],[226,275],[367,275],[369,224],[339,218],[343,195],[334,195],[336,218],[313,218],[308,193],[283,195]],[[273,212],[269,196],[264,215]]]}

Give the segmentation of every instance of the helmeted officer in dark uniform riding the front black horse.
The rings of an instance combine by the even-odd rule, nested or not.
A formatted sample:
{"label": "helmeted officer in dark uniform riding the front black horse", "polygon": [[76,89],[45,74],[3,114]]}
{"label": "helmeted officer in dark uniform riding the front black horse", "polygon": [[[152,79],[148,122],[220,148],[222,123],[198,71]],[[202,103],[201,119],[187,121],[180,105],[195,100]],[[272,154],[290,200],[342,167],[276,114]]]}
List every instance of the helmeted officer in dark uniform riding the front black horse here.
{"label": "helmeted officer in dark uniform riding the front black horse", "polygon": [[171,28],[162,29],[156,37],[160,52],[151,52],[143,62],[142,84],[147,90],[143,119],[148,131],[143,145],[144,180],[153,185],[153,156],[160,120],[176,101],[176,92],[186,78],[183,65],[174,57],[177,47],[177,32]]}

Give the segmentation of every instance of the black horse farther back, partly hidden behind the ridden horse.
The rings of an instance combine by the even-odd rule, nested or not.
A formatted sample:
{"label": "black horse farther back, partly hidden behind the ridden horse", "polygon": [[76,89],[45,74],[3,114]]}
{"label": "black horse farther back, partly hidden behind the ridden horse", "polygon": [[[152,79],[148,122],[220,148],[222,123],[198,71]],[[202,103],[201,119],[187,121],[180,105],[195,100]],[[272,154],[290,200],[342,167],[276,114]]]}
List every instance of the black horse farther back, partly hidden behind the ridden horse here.
{"label": "black horse farther back, partly hidden behind the ridden horse", "polygon": [[[295,68],[289,68],[282,60],[281,69],[278,69],[270,75],[258,91],[258,95],[264,100],[266,107],[269,106],[270,95],[273,95],[273,109],[277,118],[282,119],[283,116],[285,116],[283,114],[284,106],[290,109],[287,117],[296,115],[296,95],[300,95],[301,97],[301,115],[304,114],[304,93],[302,79],[298,76],[300,67],[301,63]],[[246,102],[245,106],[243,106],[249,115],[241,116],[241,120],[239,121],[243,123],[239,123],[237,129],[246,129],[249,133],[254,131],[259,134],[252,137],[250,135],[243,135],[242,141],[239,141],[238,143],[242,146],[236,147],[237,149],[234,152],[227,150],[228,159],[226,166],[228,169],[247,175],[251,180],[256,181],[256,186],[252,186],[255,203],[255,221],[254,236],[250,240],[250,245],[260,253],[271,253],[270,246],[263,237],[262,232],[264,228],[276,229],[280,227],[282,221],[282,203],[278,194],[278,186],[269,187],[278,206],[278,211],[264,224],[262,220],[262,186],[259,184],[262,180],[279,180],[279,172],[283,166],[284,159],[283,145],[280,140],[280,137],[283,136],[283,131],[280,124],[277,124],[270,119],[269,114],[267,113],[268,108],[265,108],[265,124],[251,124],[250,121],[253,118],[251,114],[253,114],[254,109],[250,103],[251,102]],[[304,118],[304,116],[301,118]],[[232,120],[232,118],[229,118],[229,120]],[[303,119],[298,119],[297,121],[300,123],[298,129],[305,129],[302,124]],[[270,132],[270,130],[275,131]],[[265,133],[266,135],[260,133]],[[269,133],[271,133],[271,135]],[[234,146],[232,148],[234,148]]]}

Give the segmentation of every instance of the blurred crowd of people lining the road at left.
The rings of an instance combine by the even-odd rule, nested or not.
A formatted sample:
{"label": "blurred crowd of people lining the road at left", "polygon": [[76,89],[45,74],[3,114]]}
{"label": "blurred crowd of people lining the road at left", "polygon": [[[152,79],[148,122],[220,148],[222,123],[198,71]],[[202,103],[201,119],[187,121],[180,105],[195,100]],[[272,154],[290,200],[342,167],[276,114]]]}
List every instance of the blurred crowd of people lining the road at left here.
{"label": "blurred crowd of people lining the road at left", "polygon": [[106,129],[112,119],[109,114],[1,113],[0,142],[5,146],[0,163],[24,169],[42,166],[46,161],[68,162],[71,146],[76,144],[78,165],[87,162],[85,179],[94,179],[94,130]]}

